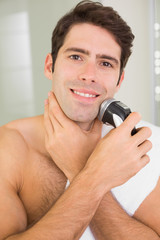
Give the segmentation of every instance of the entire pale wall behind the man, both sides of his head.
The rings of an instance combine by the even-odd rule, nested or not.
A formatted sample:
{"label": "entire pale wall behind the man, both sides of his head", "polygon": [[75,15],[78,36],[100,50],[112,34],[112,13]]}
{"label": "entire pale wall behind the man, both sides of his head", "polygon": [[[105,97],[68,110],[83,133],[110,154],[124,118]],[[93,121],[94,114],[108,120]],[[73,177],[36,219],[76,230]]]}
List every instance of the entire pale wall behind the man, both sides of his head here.
{"label": "entire pale wall behind the man, both sides of his head", "polygon": [[[0,0],[0,125],[43,113],[51,83],[44,77],[56,21],[79,0]],[[101,1],[102,2],[102,1]],[[106,0],[136,35],[117,98],[152,121],[149,0]]]}

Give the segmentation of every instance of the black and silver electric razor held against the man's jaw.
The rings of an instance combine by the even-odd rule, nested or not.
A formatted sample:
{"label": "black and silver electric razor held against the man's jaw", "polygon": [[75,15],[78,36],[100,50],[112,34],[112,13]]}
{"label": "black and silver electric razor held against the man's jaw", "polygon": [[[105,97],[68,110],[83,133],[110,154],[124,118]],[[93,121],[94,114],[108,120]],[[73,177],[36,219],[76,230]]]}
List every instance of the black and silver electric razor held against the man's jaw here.
{"label": "black and silver electric razor held against the man's jaw", "polygon": [[[114,98],[110,98],[102,102],[98,119],[104,124],[110,124],[113,127],[118,127],[130,113],[131,110],[128,106]],[[134,135],[135,133],[136,128],[132,130],[131,135]]]}

